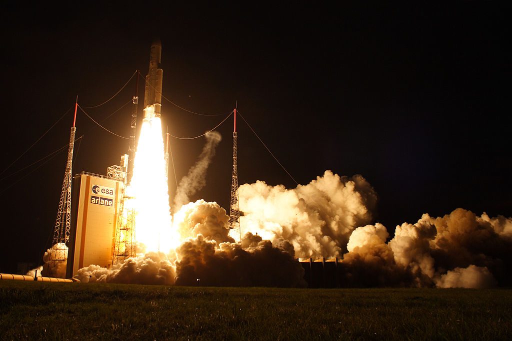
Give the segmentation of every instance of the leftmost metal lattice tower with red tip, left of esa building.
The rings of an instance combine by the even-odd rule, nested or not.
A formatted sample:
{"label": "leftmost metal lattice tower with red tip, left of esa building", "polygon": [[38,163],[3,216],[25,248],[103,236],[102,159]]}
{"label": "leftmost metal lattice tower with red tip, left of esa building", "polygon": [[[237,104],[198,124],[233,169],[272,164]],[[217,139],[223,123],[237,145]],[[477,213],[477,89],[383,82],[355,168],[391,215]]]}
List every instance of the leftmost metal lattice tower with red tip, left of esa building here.
{"label": "leftmost metal lattice tower with red tip, left of esa building", "polygon": [[76,133],[76,110],[78,108],[78,96],[75,102],[75,117],[69,137],[68,162],[66,163],[66,173],[62,181],[62,190],[60,192],[59,208],[57,210],[57,219],[55,219],[55,228],[53,230],[52,248],[50,251],[50,260],[52,264],[48,267],[49,276],[56,276],[52,273],[57,268],[56,263],[63,263],[67,260],[67,245],[71,230],[71,181],[73,179],[73,149],[75,146]]}

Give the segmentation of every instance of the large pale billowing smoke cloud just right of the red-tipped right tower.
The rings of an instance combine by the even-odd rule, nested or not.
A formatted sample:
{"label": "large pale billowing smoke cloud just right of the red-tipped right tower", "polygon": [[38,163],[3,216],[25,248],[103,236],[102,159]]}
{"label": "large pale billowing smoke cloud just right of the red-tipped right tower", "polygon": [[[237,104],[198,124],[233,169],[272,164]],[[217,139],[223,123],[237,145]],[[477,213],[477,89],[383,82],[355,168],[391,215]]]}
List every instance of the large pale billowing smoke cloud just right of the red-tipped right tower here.
{"label": "large pale billowing smoke cloud just right of the red-tipped right tower", "polygon": [[295,189],[263,181],[239,188],[242,231],[264,239],[284,239],[297,257],[337,257],[357,226],[370,223],[376,194],[362,176],[331,171]]}

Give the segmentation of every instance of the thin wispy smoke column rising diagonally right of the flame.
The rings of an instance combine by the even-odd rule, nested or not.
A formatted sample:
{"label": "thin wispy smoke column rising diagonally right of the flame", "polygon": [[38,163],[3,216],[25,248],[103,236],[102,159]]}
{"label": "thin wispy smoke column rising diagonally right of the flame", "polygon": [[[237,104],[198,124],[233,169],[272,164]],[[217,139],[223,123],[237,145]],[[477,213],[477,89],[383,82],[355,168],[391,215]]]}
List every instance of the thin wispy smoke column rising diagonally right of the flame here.
{"label": "thin wispy smoke column rising diagonally right of the flame", "polygon": [[206,170],[215,156],[215,148],[222,140],[222,135],[217,131],[210,131],[206,135],[206,144],[199,155],[196,164],[188,170],[188,174],[181,180],[176,190],[174,198],[174,212],[189,201],[189,196],[193,195],[206,185]]}

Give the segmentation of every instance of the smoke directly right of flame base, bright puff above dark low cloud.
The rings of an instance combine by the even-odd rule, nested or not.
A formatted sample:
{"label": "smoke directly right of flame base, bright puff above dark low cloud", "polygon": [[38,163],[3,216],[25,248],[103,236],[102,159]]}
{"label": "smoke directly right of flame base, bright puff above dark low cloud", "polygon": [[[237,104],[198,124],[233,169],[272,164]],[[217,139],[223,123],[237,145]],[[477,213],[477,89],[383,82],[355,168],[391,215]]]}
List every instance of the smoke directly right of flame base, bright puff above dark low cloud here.
{"label": "smoke directly right of flame base, bright puff above dark low cloud", "polygon": [[286,242],[272,245],[247,233],[240,243],[228,236],[226,211],[198,200],[175,214],[182,237],[176,284],[208,286],[305,286],[304,270]]}

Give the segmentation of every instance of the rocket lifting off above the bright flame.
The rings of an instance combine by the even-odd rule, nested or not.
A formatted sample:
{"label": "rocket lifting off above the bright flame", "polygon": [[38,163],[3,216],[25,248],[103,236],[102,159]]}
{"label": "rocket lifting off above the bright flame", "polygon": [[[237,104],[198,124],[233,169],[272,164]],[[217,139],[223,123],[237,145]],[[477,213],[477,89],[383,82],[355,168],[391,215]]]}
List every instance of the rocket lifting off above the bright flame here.
{"label": "rocket lifting off above the bright flame", "polygon": [[151,44],[150,70],[146,75],[146,87],[144,90],[144,119],[160,117],[162,107],[162,76],[163,70],[159,69],[162,55],[162,43],[160,39]]}

